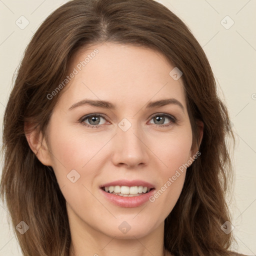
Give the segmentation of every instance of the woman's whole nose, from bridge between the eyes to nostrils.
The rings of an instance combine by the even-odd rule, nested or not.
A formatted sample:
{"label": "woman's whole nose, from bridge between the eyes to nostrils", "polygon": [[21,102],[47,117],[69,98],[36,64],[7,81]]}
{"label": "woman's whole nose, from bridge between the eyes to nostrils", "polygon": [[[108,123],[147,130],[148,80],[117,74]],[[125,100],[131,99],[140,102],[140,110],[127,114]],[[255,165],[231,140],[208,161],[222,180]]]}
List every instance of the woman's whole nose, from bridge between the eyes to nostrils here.
{"label": "woman's whole nose, from bridge between the eyes to nostrils", "polygon": [[114,164],[126,164],[128,167],[141,163],[147,164],[149,159],[143,132],[136,123],[123,118],[117,127],[117,134],[113,146]]}

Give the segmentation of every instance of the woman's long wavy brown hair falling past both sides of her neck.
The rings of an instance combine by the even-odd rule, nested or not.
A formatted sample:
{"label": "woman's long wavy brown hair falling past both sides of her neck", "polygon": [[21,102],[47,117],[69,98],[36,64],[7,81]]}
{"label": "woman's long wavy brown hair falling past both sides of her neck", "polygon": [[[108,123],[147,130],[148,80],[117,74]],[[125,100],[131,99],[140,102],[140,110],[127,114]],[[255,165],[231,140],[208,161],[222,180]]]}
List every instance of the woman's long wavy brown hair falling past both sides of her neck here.
{"label": "woman's long wavy brown hair falling past both sides of her neck", "polygon": [[[229,255],[231,233],[225,202],[230,158],[225,141],[233,138],[225,105],[216,93],[211,67],[186,25],[153,0],[72,0],[40,25],[28,44],[11,91],[3,128],[4,166],[0,192],[25,256],[68,256],[71,236],[65,199],[51,167],[29,148],[24,123],[43,133],[61,94],[47,97],[66,78],[70,58],[80,48],[105,41],[163,53],[182,71],[193,143],[196,120],[204,124],[201,155],[187,168],[184,186],[164,221],[164,247],[176,256]],[[51,169],[52,170],[52,169]],[[43,192],[42,192],[43,191]]]}

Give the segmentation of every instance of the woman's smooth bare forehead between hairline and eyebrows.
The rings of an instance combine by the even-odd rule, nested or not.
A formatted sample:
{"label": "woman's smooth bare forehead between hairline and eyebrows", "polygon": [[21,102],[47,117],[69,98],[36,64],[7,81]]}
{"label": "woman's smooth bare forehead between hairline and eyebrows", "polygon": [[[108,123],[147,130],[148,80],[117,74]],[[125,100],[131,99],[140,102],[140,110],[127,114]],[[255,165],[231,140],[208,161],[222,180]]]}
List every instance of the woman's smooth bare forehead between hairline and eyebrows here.
{"label": "woman's smooth bare forehead between hairline and eyebrows", "polygon": [[127,107],[175,97],[185,106],[183,83],[173,79],[174,66],[150,48],[105,42],[80,49],[71,59],[63,100],[102,99]]}

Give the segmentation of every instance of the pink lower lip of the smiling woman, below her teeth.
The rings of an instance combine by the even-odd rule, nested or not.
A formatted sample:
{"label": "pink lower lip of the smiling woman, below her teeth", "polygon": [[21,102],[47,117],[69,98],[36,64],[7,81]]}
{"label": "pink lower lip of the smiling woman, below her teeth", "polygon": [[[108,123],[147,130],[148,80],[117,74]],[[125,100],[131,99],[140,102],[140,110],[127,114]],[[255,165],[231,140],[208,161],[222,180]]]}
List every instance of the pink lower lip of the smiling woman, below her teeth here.
{"label": "pink lower lip of the smiling woman, below her teeth", "polygon": [[112,203],[121,207],[137,207],[149,201],[149,197],[153,195],[155,189],[151,189],[149,192],[137,195],[137,196],[121,196],[111,194],[101,189],[103,195]]}

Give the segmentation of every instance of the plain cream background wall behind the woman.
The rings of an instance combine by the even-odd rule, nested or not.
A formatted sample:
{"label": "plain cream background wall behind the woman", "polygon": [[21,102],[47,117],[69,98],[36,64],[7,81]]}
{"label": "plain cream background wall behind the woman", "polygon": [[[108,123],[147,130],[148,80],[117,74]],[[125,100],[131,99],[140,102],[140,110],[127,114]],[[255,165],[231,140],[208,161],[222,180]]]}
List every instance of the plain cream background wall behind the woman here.
{"label": "plain cream background wall behind the woman", "polygon": [[[0,123],[12,76],[40,23],[63,0],[0,0]],[[160,0],[190,28],[205,51],[237,138],[232,201],[229,207],[237,244],[232,249],[256,255],[256,2],[254,0]],[[21,29],[15,22],[25,25]],[[229,17],[227,17],[229,16]],[[20,21],[22,19],[22,21]],[[222,20],[222,21],[221,21]],[[233,23],[233,24],[232,24]],[[21,25],[21,24],[20,24]],[[0,126],[2,132],[2,125]],[[1,144],[1,140],[0,140]],[[2,163],[1,163],[2,164]],[[0,202],[0,255],[20,255]],[[52,237],[54,239],[54,237]]]}

